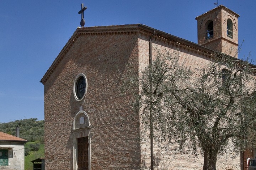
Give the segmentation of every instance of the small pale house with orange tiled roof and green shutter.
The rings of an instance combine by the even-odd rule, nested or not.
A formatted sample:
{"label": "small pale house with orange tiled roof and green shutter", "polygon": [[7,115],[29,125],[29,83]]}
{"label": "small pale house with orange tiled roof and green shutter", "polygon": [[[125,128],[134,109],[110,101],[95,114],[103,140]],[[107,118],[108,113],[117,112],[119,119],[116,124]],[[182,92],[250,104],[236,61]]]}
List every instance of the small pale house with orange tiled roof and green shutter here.
{"label": "small pale house with orange tiled roof and green shutter", "polygon": [[24,170],[25,139],[0,132],[0,169]]}

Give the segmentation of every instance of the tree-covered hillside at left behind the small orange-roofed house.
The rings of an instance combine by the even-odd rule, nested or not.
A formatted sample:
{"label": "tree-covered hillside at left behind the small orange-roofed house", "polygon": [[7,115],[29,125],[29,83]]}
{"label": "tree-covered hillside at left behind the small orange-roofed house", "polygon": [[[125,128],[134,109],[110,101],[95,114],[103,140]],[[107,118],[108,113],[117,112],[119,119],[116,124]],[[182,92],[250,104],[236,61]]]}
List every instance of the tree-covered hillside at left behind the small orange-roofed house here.
{"label": "tree-covered hillside at left behind the small orange-roofed house", "polygon": [[30,118],[0,123],[0,131],[15,136],[17,126],[20,128],[20,138],[44,143],[44,120]]}

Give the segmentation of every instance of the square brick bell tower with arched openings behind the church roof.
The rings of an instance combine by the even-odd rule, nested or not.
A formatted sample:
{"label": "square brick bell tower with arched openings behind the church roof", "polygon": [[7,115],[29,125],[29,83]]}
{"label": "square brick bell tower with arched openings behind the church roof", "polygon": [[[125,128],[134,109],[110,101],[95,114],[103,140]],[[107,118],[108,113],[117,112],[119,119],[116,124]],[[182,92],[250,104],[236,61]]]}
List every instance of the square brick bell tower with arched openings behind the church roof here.
{"label": "square brick bell tower with arched openings behind the church roof", "polygon": [[223,5],[196,17],[198,44],[238,58],[238,17]]}

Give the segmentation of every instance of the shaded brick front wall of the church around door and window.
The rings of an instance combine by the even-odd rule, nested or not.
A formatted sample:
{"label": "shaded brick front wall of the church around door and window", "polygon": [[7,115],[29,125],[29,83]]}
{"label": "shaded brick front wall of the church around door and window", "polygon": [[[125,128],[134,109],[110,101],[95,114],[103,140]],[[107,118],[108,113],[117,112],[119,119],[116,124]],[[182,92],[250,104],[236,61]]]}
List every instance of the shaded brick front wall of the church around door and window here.
{"label": "shaded brick front wall of the church around door and window", "polygon": [[[46,170],[73,169],[75,115],[85,111],[91,124],[91,169],[140,169],[139,119],[121,96],[120,73],[138,63],[138,35],[86,34],[70,47],[44,85]],[[138,69],[137,67],[135,69]],[[84,73],[87,94],[73,95],[76,76]]]}

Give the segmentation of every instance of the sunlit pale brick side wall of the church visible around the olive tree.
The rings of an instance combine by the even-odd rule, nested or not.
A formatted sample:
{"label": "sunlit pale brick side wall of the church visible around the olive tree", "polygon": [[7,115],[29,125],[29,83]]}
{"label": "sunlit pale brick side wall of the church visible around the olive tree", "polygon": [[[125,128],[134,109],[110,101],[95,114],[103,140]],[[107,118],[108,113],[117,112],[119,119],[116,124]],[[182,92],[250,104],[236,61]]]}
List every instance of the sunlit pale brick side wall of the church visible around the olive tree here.
{"label": "sunlit pale brick side wall of the church visible around the olive tree", "polygon": [[[149,37],[141,35],[139,38],[139,71],[143,70],[149,64]],[[152,57],[156,55],[156,50],[164,50],[170,52],[179,52],[180,60],[186,60],[187,66],[197,67],[197,64],[200,66],[205,66],[209,60],[200,55],[200,52],[188,52],[184,50],[182,46],[175,44],[168,44],[165,39],[153,39],[152,43]],[[143,129],[142,129],[143,130]],[[143,135],[144,133],[142,133]],[[150,169],[150,140],[149,140],[149,130],[145,133],[145,138],[141,143],[141,158],[142,158],[142,169]],[[157,143],[154,141],[154,161],[156,170],[200,170],[203,168],[203,156],[198,155],[197,158],[194,158],[192,153],[181,154],[178,152],[169,152],[160,149],[159,146],[164,146],[164,143]],[[177,148],[177,146],[171,146],[172,148]],[[235,156],[235,153],[228,151],[227,154],[218,157],[217,160],[217,169],[225,169],[226,167],[231,167],[234,170],[240,170],[240,155],[237,155],[234,159],[231,159],[232,156]]]}

